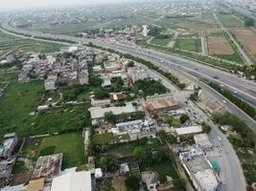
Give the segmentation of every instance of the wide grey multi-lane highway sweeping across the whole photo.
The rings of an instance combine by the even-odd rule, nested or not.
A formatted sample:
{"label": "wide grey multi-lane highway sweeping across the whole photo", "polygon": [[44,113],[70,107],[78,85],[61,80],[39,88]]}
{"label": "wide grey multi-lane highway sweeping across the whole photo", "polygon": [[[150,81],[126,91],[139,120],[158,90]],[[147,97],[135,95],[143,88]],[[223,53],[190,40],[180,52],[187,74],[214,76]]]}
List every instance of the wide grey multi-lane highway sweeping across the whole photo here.
{"label": "wide grey multi-lane highway sweeping across the whole photo", "polygon": [[233,92],[237,96],[240,96],[251,105],[256,107],[256,84],[252,81],[240,78],[234,74],[229,74],[221,70],[209,67],[206,65],[199,64],[196,61],[188,60],[179,57],[174,54],[160,53],[157,51],[141,49],[136,46],[129,46],[119,43],[110,43],[108,41],[100,41],[97,39],[84,39],[69,35],[54,35],[42,32],[30,32],[15,29],[9,25],[8,21],[2,24],[2,28],[9,32],[17,32],[19,35],[23,34],[33,38],[48,38],[52,41],[73,41],[79,44],[92,42],[95,45],[102,46],[105,48],[111,48],[122,53],[130,53],[134,56],[142,57],[144,59],[150,60],[155,64],[160,64],[163,67],[168,68],[171,71],[175,71],[182,74],[184,77],[191,80],[193,83],[198,85],[202,90],[208,94],[214,96],[219,101],[225,100],[225,108],[231,111],[238,117],[244,119],[246,124],[256,132],[256,122],[251,117],[248,117],[242,110],[237,108],[228,99],[221,96],[219,93],[202,83],[199,79],[206,78],[210,81],[218,83],[223,88]]}

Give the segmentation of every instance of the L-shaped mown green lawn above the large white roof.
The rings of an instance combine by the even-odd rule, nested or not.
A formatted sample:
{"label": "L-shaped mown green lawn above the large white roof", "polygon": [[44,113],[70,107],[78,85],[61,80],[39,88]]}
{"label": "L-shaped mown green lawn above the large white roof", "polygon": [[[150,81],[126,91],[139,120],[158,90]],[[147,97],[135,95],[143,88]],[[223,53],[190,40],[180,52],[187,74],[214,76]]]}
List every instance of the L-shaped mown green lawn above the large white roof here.
{"label": "L-shaped mown green lawn above the large white roof", "polygon": [[80,166],[85,163],[83,148],[81,133],[42,138],[36,149],[35,159],[39,156],[63,153],[62,168]]}

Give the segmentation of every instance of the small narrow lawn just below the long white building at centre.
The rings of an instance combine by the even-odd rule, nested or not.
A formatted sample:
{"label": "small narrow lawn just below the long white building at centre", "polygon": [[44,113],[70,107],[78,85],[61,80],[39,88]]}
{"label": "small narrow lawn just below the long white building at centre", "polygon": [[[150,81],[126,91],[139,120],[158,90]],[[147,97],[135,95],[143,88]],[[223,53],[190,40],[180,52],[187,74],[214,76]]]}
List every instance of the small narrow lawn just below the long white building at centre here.
{"label": "small narrow lawn just below the long white building at centre", "polygon": [[112,133],[96,134],[93,136],[92,141],[94,144],[105,144],[108,142],[119,141],[121,139],[128,139],[127,135],[114,136]]}

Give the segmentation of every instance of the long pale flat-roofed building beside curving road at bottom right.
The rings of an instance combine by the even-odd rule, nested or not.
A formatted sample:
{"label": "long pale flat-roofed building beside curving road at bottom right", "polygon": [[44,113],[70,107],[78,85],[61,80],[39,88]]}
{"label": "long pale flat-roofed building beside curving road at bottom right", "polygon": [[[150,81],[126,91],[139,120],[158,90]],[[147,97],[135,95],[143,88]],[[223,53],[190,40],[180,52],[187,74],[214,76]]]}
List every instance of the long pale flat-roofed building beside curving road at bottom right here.
{"label": "long pale flat-roofed building beside curving road at bottom right", "polygon": [[216,190],[220,179],[201,149],[180,153],[179,159],[198,191]]}

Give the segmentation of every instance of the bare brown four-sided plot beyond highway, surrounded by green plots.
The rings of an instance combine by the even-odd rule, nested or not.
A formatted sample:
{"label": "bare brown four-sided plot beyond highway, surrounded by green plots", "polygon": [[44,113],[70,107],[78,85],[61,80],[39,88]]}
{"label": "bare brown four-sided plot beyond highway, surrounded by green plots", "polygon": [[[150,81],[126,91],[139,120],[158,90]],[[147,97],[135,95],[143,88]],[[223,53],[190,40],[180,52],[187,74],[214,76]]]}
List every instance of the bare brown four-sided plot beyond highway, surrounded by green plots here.
{"label": "bare brown four-sided plot beyond highway, surrounded by green plots", "polygon": [[232,54],[234,53],[231,45],[225,37],[208,37],[208,47],[210,54]]}

